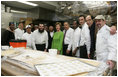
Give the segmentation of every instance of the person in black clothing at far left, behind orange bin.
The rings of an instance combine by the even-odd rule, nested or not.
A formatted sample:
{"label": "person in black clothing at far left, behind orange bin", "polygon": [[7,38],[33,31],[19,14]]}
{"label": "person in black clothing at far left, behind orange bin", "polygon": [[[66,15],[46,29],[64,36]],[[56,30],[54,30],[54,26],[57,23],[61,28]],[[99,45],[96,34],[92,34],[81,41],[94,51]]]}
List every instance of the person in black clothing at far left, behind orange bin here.
{"label": "person in black clothing at far left, behind orange bin", "polygon": [[1,45],[9,45],[9,41],[15,39],[14,29],[14,23],[10,22],[7,30],[5,30],[1,35]]}

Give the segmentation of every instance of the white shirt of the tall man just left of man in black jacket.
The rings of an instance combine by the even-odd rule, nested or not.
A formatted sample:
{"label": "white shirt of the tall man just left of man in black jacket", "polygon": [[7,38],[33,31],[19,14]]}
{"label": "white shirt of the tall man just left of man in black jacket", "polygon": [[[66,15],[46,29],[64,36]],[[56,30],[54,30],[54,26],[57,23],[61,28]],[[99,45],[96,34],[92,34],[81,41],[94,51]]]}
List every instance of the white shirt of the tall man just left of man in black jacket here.
{"label": "white shirt of the tall man just left of man in black jacket", "polygon": [[87,47],[87,53],[90,54],[90,45],[91,45],[91,40],[90,40],[90,31],[89,27],[86,23],[82,25],[82,30],[81,30],[81,39],[80,39],[80,46],[86,45]]}

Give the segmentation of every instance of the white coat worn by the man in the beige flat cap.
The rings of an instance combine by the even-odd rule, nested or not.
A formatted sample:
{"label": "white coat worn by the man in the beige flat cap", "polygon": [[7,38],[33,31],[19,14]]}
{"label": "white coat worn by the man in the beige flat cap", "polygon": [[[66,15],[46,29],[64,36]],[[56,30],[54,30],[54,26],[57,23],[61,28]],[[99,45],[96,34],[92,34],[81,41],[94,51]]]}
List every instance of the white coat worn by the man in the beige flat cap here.
{"label": "white coat worn by the man in the beige flat cap", "polygon": [[108,39],[110,32],[108,26],[104,25],[97,33],[96,39],[96,58],[98,61],[106,62],[108,60]]}

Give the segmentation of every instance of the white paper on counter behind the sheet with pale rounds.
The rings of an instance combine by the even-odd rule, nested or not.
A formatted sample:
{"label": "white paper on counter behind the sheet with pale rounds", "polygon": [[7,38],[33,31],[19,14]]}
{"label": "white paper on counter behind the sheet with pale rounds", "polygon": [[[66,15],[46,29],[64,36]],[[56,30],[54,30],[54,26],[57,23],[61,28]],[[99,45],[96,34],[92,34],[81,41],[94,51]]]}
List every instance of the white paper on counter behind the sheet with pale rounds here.
{"label": "white paper on counter behind the sheet with pale rounds", "polygon": [[35,64],[56,63],[66,61],[65,59],[58,58],[56,56],[50,56],[49,54],[40,51],[24,52],[19,56],[13,57],[12,59],[25,62],[31,66],[34,66]]}

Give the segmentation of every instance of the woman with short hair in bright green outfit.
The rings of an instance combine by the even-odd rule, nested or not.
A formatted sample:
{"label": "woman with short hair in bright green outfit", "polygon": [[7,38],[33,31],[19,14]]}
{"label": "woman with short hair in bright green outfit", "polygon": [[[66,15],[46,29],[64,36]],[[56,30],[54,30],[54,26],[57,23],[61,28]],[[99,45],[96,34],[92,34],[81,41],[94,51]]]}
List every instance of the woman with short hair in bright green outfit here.
{"label": "woman with short hair in bright green outfit", "polygon": [[63,54],[63,37],[64,37],[64,34],[61,31],[61,23],[57,22],[55,25],[56,25],[56,32],[54,33],[54,36],[53,36],[51,48],[57,49],[58,54]]}

